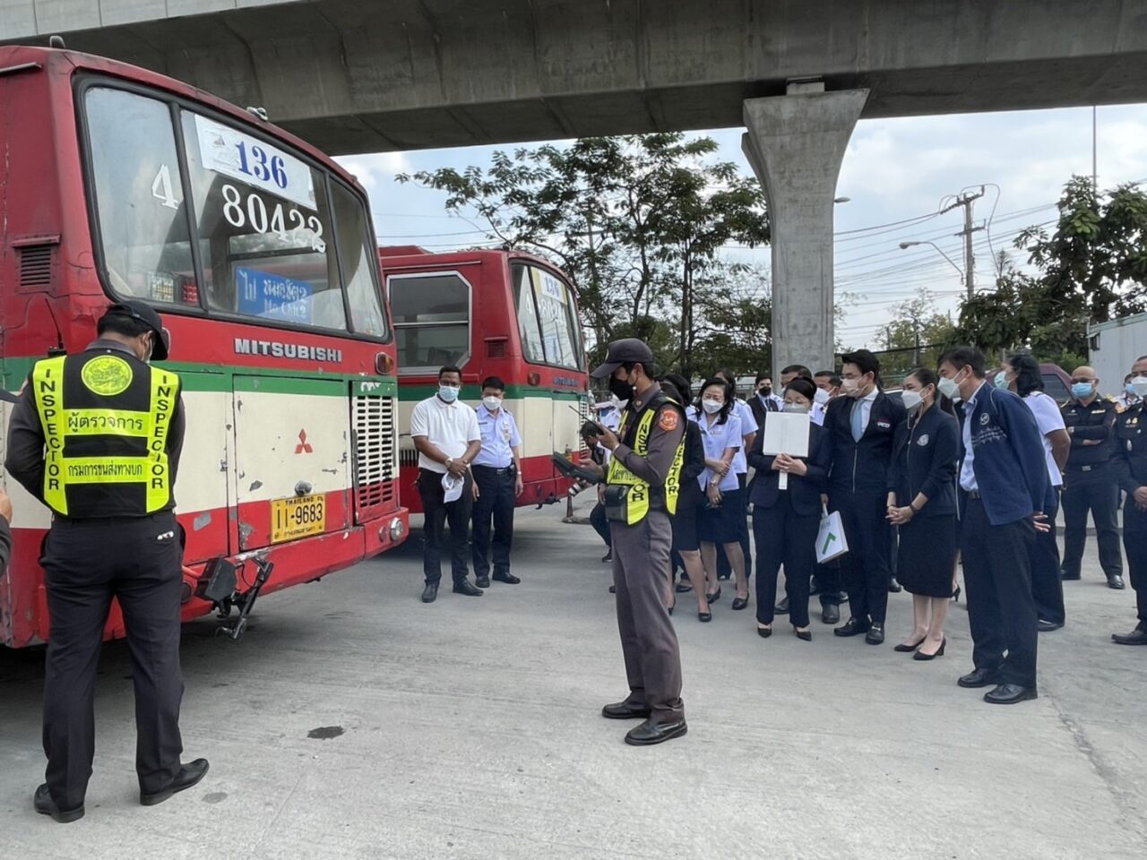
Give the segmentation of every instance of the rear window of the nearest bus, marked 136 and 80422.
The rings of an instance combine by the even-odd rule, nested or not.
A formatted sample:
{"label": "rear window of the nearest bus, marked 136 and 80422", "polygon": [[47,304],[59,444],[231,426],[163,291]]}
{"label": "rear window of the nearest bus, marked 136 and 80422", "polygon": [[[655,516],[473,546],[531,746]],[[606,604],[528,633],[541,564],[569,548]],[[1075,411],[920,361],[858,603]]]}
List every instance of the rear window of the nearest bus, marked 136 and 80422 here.
{"label": "rear window of the nearest bus, marked 136 and 80422", "polygon": [[366,205],[334,174],[157,94],[93,85],[84,108],[115,294],[387,337]]}

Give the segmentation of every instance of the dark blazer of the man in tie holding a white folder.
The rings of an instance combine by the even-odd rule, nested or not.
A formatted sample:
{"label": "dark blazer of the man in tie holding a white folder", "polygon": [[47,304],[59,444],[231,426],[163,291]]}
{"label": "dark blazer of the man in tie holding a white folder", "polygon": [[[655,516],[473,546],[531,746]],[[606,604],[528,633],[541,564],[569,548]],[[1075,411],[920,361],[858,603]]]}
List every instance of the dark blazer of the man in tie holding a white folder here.
{"label": "dark blazer of the man in tie holding a white folder", "polygon": [[825,412],[825,429],[830,433],[833,458],[828,483],[835,490],[851,493],[887,493],[892,439],[907,419],[904,402],[879,392],[859,443],[852,439],[855,402],[851,397],[837,397],[828,401]]}

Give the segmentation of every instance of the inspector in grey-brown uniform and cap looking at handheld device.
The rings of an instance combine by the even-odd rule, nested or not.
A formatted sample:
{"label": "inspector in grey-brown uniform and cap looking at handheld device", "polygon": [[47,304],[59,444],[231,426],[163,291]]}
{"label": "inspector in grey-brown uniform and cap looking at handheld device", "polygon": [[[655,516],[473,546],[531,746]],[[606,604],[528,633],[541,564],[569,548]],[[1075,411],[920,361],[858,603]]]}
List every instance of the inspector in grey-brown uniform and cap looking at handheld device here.
{"label": "inspector in grey-brown uniform and cap looking at handheld device", "polygon": [[[635,338],[609,344],[606,363],[591,375],[609,377],[609,390],[629,406],[617,433],[601,428],[612,452],[604,506],[614,547],[617,627],[630,695],[606,705],[610,719],[646,721],[625,736],[642,746],[684,735],[681,657],[665,608],[673,530],[685,458],[685,411],[654,382],[653,352]],[[618,438],[619,437],[619,438]],[[593,440],[591,440],[593,441]]]}

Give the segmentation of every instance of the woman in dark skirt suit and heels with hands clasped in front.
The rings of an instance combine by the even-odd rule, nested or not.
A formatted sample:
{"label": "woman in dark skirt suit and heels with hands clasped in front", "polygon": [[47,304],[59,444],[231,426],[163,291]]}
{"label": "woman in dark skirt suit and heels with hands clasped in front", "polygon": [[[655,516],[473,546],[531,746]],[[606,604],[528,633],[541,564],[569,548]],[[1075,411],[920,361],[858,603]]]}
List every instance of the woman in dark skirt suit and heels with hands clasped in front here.
{"label": "woman in dark skirt suit and heels with hands clasped in front", "polygon": [[960,425],[936,388],[936,374],[918,368],[904,378],[908,420],[892,440],[888,519],[900,529],[897,572],[912,594],[912,634],[897,651],[918,660],[944,654],[944,617],[955,569],[955,472]]}

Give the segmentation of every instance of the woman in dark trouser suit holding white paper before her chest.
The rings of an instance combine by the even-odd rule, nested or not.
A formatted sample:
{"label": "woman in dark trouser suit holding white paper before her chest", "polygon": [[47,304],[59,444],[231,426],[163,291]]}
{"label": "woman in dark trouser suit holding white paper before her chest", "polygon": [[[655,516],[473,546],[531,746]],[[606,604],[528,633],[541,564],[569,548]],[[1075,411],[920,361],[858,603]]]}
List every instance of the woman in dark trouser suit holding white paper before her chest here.
{"label": "woman in dark trouser suit holding white paper before her chest", "polygon": [[[785,412],[807,413],[817,386],[798,376],[785,390]],[[765,416],[765,423],[775,413]],[[752,535],[757,542],[757,633],[773,634],[777,605],[777,574],[785,565],[785,593],[789,620],[798,639],[812,639],[809,630],[809,580],[817,561],[817,530],[820,526],[820,494],[828,482],[832,438],[809,422],[809,456],[765,454],[765,428],[760,429],[749,452],[749,466],[757,470],[752,484]],[[788,488],[780,488],[781,472],[788,474]]]}

